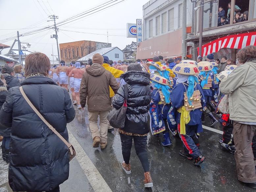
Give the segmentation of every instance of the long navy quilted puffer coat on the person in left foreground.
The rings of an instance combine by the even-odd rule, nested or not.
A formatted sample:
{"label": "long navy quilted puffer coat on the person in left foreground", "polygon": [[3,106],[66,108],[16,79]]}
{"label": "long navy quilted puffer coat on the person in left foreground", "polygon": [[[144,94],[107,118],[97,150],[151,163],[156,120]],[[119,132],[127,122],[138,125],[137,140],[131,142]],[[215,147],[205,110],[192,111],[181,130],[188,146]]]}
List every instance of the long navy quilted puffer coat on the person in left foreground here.
{"label": "long navy quilted puffer coat on the person in left foreground", "polygon": [[[23,90],[43,117],[66,139],[75,117],[66,89],[47,77],[29,77]],[[68,179],[68,148],[37,116],[19,87],[10,88],[0,123],[11,127],[9,184],[13,191],[49,191]]]}

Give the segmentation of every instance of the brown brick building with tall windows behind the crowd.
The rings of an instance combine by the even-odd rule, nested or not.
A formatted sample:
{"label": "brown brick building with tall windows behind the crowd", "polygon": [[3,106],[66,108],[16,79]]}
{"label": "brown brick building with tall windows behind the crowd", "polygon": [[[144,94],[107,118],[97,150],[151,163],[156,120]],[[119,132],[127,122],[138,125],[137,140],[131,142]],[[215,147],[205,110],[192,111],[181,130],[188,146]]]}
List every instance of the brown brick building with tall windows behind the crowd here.
{"label": "brown brick building with tall windows behind the crowd", "polygon": [[87,40],[60,43],[60,57],[61,60],[64,60],[66,63],[70,63],[72,60],[79,60],[98,49],[106,47],[111,47],[111,43]]}

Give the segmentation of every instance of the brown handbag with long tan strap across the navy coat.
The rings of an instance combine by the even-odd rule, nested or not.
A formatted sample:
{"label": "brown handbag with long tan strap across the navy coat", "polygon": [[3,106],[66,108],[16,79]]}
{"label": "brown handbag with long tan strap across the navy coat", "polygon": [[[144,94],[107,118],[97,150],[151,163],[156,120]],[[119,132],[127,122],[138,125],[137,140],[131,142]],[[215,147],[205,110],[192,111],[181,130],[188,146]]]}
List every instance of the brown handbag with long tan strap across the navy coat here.
{"label": "brown handbag with long tan strap across the navy coat", "polygon": [[41,113],[37,110],[37,108],[35,108],[35,106],[31,103],[31,101],[29,100],[29,98],[27,97],[27,95],[25,94],[25,92],[23,91],[22,86],[19,87],[19,90],[22,94],[22,96],[24,97],[24,99],[26,100],[26,102],[29,104],[29,106],[35,111],[35,113],[38,115],[38,117],[48,126],[48,128],[50,130],[52,130],[64,143],[65,145],[68,147],[68,154],[69,154],[69,161],[71,161],[75,156],[76,156],[76,151],[74,149],[74,147],[68,143],[63,136],[60,135],[59,132],[56,131],[56,129],[54,129],[46,120],[45,118],[43,118],[43,116],[41,115]]}

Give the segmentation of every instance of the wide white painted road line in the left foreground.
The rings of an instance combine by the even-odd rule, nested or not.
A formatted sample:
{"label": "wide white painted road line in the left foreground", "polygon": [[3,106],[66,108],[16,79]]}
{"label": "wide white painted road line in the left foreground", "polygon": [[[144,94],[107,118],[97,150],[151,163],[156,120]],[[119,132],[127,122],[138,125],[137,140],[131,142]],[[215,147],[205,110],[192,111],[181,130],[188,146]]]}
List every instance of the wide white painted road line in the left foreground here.
{"label": "wide white painted road line in the left foreground", "polygon": [[93,190],[95,192],[112,192],[106,181],[103,179],[97,168],[90,160],[89,156],[87,156],[81,145],[69,130],[68,135],[69,142],[74,146],[76,150],[76,159],[84,171],[87,179],[89,180]]}

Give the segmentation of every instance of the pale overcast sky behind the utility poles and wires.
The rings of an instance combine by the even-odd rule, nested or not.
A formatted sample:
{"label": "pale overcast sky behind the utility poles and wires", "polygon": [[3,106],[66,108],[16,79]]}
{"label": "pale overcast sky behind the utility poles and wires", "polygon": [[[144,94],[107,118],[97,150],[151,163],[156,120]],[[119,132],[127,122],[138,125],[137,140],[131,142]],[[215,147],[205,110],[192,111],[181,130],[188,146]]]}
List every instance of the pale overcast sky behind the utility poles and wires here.
{"label": "pale overcast sky behind the utility poles and wires", "polygon": [[[15,38],[17,31],[23,34],[40,29],[40,27],[52,25],[52,21],[47,22],[47,20],[50,20],[47,18],[50,14],[58,15],[59,19],[56,21],[60,22],[81,12],[91,10],[108,1],[109,0],[0,0],[0,43],[11,46],[13,40],[5,42],[4,39],[9,37]],[[120,1],[121,0],[117,0],[114,3]],[[113,7],[62,25],[59,27],[60,31],[58,33],[59,43],[79,40],[109,41],[109,43],[112,43],[112,47],[117,46],[123,49],[127,44],[136,41],[136,38],[126,37],[126,23],[136,23],[137,18],[142,18],[142,6],[148,1],[149,0],[124,0]],[[107,30],[109,34],[108,38],[106,36]],[[53,54],[58,55],[56,40],[50,38],[53,34],[55,34],[55,32],[49,29],[34,35],[20,37],[20,41],[31,44],[31,48],[28,49],[29,51],[45,53],[50,60],[52,60],[52,45]],[[22,46],[23,45],[25,44],[22,44]],[[18,45],[16,43],[14,49],[17,48]],[[8,51],[9,49],[5,49],[2,54],[6,54]]]}

